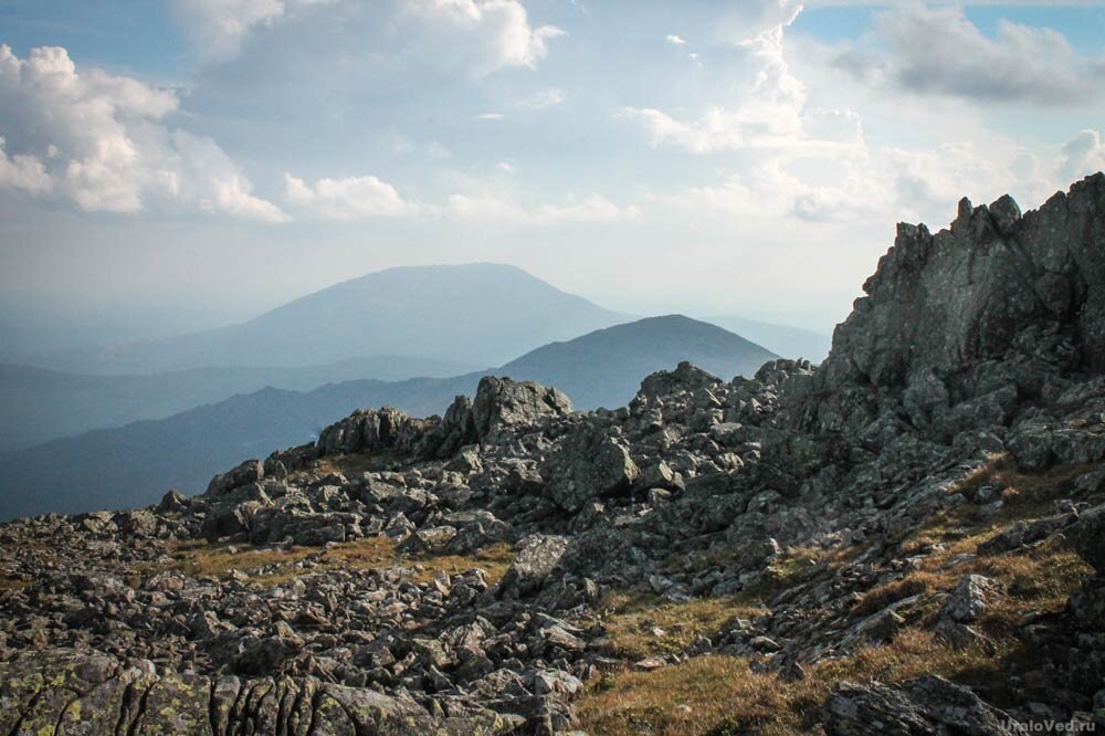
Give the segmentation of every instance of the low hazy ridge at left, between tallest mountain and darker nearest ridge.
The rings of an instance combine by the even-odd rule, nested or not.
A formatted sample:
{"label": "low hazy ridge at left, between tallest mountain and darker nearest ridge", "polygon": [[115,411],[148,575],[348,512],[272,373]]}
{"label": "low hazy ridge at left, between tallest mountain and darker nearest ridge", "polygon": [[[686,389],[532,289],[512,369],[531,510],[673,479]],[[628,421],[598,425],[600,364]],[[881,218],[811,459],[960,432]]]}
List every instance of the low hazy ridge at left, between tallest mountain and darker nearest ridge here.
{"label": "low hazy ridge at left, between tallest mountain and darker nearest ridge", "polygon": [[386,381],[475,370],[455,360],[371,356],[308,368],[193,368],[149,376],[83,376],[0,364],[0,452],[94,429],[164,419],[265,387],[307,391],[364,378]]}

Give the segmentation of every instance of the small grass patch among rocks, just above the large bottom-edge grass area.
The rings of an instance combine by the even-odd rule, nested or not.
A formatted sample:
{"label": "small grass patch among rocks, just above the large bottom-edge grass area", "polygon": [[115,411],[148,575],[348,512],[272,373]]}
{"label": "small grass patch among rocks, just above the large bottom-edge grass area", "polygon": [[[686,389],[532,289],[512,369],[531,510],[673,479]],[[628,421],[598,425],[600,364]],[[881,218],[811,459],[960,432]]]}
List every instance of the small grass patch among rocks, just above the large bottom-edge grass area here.
{"label": "small grass patch among rocks, just above the large bottom-edge grass area", "polygon": [[608,593],[599,604],[610,654],[630,660],[681,653],[698,637],[713,637],[734,619],[754,619],[765,612],[732,598],[671,603],[635,592]]}

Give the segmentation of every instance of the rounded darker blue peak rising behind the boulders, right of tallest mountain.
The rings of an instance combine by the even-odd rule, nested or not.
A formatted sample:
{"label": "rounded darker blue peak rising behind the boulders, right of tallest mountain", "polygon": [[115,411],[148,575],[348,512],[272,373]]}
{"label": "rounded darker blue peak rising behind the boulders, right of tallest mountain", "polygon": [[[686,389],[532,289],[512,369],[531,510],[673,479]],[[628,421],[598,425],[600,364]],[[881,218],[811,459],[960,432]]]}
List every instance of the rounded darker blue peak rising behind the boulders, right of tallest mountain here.
{"label": "rounded darker blue peak rising behind the boulders, right of tallest mountain", "polygon": [[650,317],[552,343],[499,372],[562,389],[579,409],[623,407],[651,372],[691,360],[725,379],[751,376],[779,356],[716,325],[682,315]]}

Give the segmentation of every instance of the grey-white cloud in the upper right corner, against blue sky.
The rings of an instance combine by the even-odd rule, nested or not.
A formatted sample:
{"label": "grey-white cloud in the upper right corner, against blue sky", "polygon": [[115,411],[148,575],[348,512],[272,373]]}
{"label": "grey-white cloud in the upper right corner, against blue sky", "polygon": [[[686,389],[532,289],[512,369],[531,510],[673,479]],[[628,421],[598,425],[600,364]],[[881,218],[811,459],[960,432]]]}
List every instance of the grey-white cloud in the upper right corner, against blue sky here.
{"label": "grey-white cloud in the upper right corner, against blue sky", "polygon": [[1105,57],[1052,29],[1001,21],[983,34],[958,8],[904,7],[876,23],[887,53],[841,52],[834,65],[872,84],[980,102],[1063,105],[1101,94]]}

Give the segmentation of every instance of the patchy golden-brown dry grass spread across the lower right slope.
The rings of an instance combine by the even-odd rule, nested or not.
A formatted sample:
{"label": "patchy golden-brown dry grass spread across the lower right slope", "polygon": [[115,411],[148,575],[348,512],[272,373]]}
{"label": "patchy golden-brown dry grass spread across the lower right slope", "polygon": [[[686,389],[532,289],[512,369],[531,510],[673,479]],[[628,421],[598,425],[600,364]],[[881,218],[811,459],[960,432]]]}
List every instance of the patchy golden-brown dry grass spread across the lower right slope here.
{"label": "patchy golden-brown dry grass spread across the lower right slope", "polygon": [[[1053,513],[1057,498],[1070,497],[1071,482],[1095,467],[1065,466],[1030,475],[1019,472],[1004,456],[991,458],[951,491],[971,491],[992,483],[1001,491],[1002,511],[985,518],[978,506],[968,504],[929,519],[903,542],[901,555],[919,555],[930,545],[938,545],[936,550],[919,557],[917,569],[901,579],[867,591],[852,611],[854,616],[866,616],[909,596],[947,590],[965,575],[985,575],[1002,589],[975,623],[988,643],[957,646],[926,630],[924,624],[932,622],[929,613],[935,612],[935,607],[928,606],[927,613],[890,643],[808,665],[806,677],[798,681],[756,673],[748,660],[720,655],[693,658],[652,672],[607,673],[591,684],[580,701],[580,726],[596,736],[807,734],[815,728],[820,707],[838,682],[893,683],[920,674],[939,674],[986,688],[998,705],[1012,705],[1003,702],[1008,670],[1014,662],[1033,656],[1031,644],[1019,639],[1018,621],[1027,611],[1061,610],[1093,570],[1061,536],[993,557],[977,556],[978,547],[1012,522]],[[695,607],[708,625],[717,622],[726,606],[770,600],[788,586],[817,577],[820,570],[834,569],[840,562],[825,555],[791,551],[776,561],[772,575],[758,589],[743,591],[727,601],[696,602]],[[659,621],[667,616],[678,621],[681,611],[674,607],[650,611],[645,604],[634,610],[633,606],[627,601],[611,607],[618,623],[612,628],[608,621],[612,640],[623,651],[634,653],[650,646],[663,650],[665,642],[650,641],[648,629],[665,628]],[[690,616],[691,611],[682,613]]]}

